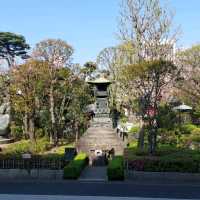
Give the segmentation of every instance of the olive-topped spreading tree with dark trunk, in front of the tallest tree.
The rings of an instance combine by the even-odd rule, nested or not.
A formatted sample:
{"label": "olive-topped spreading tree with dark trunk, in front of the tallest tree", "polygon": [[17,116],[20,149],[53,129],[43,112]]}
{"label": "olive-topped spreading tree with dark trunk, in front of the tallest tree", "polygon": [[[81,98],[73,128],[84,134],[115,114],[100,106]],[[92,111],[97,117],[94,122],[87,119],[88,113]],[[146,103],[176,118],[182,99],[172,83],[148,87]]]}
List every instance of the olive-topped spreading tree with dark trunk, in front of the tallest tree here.
{"label": "olive-topped spreading tree with dark trunk, in front of the tallest tree", "polygon": [[[124,82],[140,105],[148,126],[149,153],[154,154],[157,142],[157,113],[163,91],[177,77],[177,67],[169,61],[143,61],[125,66]],[[137,89],[135,89],[137,88]]]}

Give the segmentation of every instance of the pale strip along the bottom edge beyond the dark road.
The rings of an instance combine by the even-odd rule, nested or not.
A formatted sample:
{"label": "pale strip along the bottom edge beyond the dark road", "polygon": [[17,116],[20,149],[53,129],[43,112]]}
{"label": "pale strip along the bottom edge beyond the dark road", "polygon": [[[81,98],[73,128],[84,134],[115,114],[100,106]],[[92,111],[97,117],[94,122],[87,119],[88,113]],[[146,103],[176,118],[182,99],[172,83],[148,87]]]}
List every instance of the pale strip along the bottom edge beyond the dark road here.
{"label": "pale strip along the bottom edge beyond the dark road", "polygon": [[[2,200],[177,200],[168,198],[0,194]],[[188,200],[188,199],[179,199]]]}

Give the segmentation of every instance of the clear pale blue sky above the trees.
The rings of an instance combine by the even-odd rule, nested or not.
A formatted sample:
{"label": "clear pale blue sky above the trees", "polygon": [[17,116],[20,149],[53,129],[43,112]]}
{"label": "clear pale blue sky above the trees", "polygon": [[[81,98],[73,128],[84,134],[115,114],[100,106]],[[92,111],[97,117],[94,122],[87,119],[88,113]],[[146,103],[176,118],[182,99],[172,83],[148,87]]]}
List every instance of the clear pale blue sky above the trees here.
{"label": "clear pale blue sky above the trees", "polygon": [[[31,47],[43,39],[63,39],[74,48],[73,61],[84,64],[119,43],[120,1],[0,0],[0,31],[22,34]],[[200,0],[168,1],[176,11],[175,24],[181,25],[179,45],[200,42]]]}

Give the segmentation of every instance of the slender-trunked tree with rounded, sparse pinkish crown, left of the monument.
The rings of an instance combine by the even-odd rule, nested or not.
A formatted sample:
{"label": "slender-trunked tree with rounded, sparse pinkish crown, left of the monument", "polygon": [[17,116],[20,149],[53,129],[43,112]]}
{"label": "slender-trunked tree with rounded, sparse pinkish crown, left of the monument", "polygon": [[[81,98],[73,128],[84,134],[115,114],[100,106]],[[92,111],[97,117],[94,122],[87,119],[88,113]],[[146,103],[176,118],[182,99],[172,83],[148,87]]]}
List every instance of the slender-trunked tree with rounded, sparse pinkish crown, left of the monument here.
{"label": "slender-trunked tree with rounded, sparse pinkish crown, left of the monument", "polygon": [[55,116],[55,85],[58,81],[57,70],[63,67],[70,67],[73,48],[65,41],[60,39],[48,39],[36,44],[33,56],[36,59],[49,63],[49,105],[51,115],[52,140],[54,144],[58,141]]}

